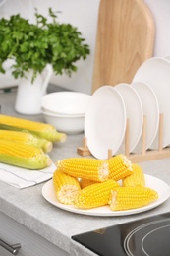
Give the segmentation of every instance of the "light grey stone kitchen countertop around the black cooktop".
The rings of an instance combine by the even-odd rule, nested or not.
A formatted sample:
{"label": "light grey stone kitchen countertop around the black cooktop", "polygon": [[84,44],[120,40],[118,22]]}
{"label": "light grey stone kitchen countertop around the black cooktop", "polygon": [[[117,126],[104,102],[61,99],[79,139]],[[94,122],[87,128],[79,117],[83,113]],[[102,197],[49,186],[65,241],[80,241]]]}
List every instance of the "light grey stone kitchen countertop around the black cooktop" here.
{"label": "light grey stone kitchen countertop around the black cooktop", "polygon": [[[15,92],[0,94],[1,113],[43,121],[41,115],[19,115],[14,111]],[[77,148],[82,146],[84,134],[70,135],[63,144],[56,144],[50,157],[54,162],[68,157],[80,157]],[[158,177],[170,185],[170,158],[140,163],[144,173]],[[121,217],[95,217],[61,210],[48,203],[41,194],[45,183],[26,189],[17,189],[0,182],[0,211],[24,224],[30,230],[62,248],[72,256],[92,256],[94,253],[71,239],[82,232],[138,220],[170,211],[170,199],[153,210]]]}

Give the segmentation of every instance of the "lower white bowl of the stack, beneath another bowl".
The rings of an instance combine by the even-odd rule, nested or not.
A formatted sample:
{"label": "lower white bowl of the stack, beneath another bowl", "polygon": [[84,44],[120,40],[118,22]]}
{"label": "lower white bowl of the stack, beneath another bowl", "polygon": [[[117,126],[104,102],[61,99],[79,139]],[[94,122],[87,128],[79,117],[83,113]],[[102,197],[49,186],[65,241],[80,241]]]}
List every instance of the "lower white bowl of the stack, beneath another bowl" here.
{"label": "lower white bowl of the stack, beneath another bowl", "polygon": [[52,124],[57,131],[66,134],[78,134],[84,132],[85,114],[77,116],[52,114],[42,111],[44,120]]}

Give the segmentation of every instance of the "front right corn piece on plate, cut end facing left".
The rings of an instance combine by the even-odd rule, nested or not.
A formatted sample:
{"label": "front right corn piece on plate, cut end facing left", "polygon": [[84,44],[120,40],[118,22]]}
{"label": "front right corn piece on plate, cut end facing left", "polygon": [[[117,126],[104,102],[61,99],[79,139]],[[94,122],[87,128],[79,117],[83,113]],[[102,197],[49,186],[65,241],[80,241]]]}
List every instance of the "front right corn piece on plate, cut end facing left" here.
{"label": "front right corn piece on plate, cut end facing left", "polygon": [[118,187],[111,192],[109,200],[113,211],[130,210],[148,205],[158,198],[158,193],[148,187]]}

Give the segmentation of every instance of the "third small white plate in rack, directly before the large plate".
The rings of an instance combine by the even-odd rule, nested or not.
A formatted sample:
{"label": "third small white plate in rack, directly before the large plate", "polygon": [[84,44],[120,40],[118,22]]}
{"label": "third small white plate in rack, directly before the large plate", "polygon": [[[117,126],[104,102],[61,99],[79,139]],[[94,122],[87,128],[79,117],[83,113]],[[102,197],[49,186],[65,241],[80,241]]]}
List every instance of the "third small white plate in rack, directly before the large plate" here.
{"label": "third small white plate in rack, directly before the large plate", "polygon": [[[141,98],[143,115],[146,117],[145,150],[147,150],[153,143],[158,131],[159,105],[154,91],[147,84],[134,82],[132,83],[132,87]],[[142,152],[142,138],[133,152]]]}

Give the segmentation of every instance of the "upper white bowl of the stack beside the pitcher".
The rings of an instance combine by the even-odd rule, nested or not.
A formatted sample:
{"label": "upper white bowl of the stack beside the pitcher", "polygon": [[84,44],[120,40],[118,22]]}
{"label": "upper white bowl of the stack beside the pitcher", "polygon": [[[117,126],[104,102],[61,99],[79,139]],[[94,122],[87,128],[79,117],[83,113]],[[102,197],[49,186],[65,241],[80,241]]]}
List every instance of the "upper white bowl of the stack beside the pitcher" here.
{"label": "upper white bowl of the stack beside the pitcher", "polygon": [[57,114],[85,114],[91,96],[78,92],[55,92],[42,97],[42,109]]}

